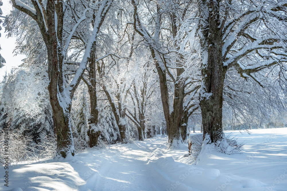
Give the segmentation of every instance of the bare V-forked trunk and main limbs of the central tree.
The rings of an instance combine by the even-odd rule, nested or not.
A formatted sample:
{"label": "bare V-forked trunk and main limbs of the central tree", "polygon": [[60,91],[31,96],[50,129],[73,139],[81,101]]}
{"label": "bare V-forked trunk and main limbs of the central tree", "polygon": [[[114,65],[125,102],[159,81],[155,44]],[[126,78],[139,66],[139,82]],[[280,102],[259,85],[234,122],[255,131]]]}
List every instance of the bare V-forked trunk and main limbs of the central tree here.
{"label": "bare V-forked trunk and main limbs of the central tree", "polygon": [[[160,28],[161,28],[161,8],[160,5],[157,5],[157,15],[155,17],[155,29],[153,37],[147,38],[146,34],[143,32],[146,31],[146,28],[144,28],[141,25],[139,15],[137,14],[137,3],[135,3],[134,0],[132,0],[133,6],[134,6],[134,29],[135,31],[144,37],[144,40],[146,40],[148,46],[150,47],[150,52],[152,54],[152,58],[154,60],[159,81],[160,81],[160,94],[162,99],[162,106],[164,110],[164,118],[166,120],[166,126],[167,126],[167,132],[168,132],[168,147],[172,145],[177,145],[179,143],[182,143],[181,138],[181,118],[183,115],[183,99],[184,99],[184,88],[185,88],[185,80],[181,78],[181,74],[184,72],[184,68],[182,67],[182,63],[184,59],[180,56],[179,64],[177,65],[177,75],[176,77],[173,77],[172,74],[170,74],[170,71],[166,67],[166,63],[168,62],[164,55],[159,54],[157,51],[159,50],[158,45],[160,44]],[[185,14],[185,13],[184,13]],[[184,14],[182,18],[184,18]],[[177,35],[177,27],[179,26],[175,14],[172,15],[172,35],[175,37]],[[175,42],[175,48],[177,48],[177,42]],[[167,79],[166,75],[169,75],[170,78],[172,78],[174,82],[174,99],[173,99],[173,105],[170,104],[170,97],[169,97],[169,89],[167,85]]]}

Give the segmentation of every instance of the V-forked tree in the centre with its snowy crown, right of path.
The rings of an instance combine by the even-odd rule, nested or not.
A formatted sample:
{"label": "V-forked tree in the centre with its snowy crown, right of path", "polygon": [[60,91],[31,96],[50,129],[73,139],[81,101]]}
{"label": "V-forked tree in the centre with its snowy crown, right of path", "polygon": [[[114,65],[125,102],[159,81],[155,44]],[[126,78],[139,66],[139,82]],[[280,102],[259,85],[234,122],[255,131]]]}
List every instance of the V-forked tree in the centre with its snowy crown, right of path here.
{"label": "V-forked tree in the centre with its snowy crown, right of path", "polygon": [[192,93],[185,92],[186,85],[190,85],[185,83],[189,76],[184,76],[187,66],[185,43],[177,41],[181,21],[189,12],[190,2],[132,1],[131,23],[148,47],[158,73],[170,148],[182,143],[183,102],[185,96]]}

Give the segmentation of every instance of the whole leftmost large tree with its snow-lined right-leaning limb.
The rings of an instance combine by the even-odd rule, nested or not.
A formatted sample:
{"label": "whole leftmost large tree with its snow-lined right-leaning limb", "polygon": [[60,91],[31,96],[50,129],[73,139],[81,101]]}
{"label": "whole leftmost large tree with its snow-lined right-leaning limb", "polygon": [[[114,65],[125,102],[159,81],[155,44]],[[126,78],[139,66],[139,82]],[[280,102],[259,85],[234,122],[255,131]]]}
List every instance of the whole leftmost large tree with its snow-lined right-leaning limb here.
{"label": "whole leftmost large tree with its snow-lined right-leaning limb", "polygon": [[[40,29],[41,36],[47,49],[49,97],[53,110],[54,124],[57,130],[57,157],[74,155],[73,137],[71,132],[70,111],[73,94],[81,81],[86,69],[92,45],[96,42],[100,19],[94,17],[92,34],[87,36],[87,45],[81,63],[75,75],[68,84],[65,83],[63,66],[67,56],[67,50],[76,29],[86,19],[88,11],[97,10],[100,17],[106,13],[112,0],[83,2],[77,4],[77,9],[70,9],[71,1],[28,1],[23,3],[12,0],[13,7],[26,13],[34,19]],[[75,17],[75,15],[77,15]],[[83,26],[81,26],[83,27]],[[86,28],[90,27],[90,23]]]}

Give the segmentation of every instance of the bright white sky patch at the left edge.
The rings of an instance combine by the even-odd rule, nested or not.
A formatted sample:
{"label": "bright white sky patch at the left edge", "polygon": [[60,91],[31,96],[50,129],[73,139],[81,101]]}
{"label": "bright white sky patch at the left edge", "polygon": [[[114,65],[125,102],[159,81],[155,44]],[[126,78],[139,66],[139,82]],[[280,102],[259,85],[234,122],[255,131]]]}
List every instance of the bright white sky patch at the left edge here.
{"label": "bright white sky patch at the left edge", "polygon": [[[3,11],[2,16],[6,16],[11,10],[12,5],[9,3],[8,0],[2,0],[3,6],[1,6],[1,9]],[[2,21],[4,19],[2,18]],[[20,64],[22,64],[22,59],[25,58],[24,55],[18,54],[17,56],[14,56],[12,53],[15,48],[15,39],[16,38],[7,38],[6,33],[4,33],[5,28],[1,25],[2,30],[0,31],[1,37],[0,37],[0,54],[1,56],[6,60],[6,63],[4,63],[5,66],[0,68],[0,80],[3,79],[3,76],[5,75],[5,71],[9,73],[11,71],[11,68],[18,67]]]}

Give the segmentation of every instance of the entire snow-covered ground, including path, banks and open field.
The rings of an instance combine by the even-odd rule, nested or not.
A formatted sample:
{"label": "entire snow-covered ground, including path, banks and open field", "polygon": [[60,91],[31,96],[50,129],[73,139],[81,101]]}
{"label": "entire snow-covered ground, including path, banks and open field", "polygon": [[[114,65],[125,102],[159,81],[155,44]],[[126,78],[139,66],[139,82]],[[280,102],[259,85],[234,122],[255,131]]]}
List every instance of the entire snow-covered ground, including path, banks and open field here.
{"label": "entire snow-covered ground, including path, banks and open field", "polygon": [[0,167],[0,190],[287,190],[287,128],[250,132],[232,132],[245,142],[240,154],[211,151],[197,165],[189,164],[187,145],[166,150],[159,135],[79,153],[75,161],[9,166],[9,187]]}

